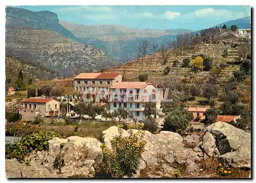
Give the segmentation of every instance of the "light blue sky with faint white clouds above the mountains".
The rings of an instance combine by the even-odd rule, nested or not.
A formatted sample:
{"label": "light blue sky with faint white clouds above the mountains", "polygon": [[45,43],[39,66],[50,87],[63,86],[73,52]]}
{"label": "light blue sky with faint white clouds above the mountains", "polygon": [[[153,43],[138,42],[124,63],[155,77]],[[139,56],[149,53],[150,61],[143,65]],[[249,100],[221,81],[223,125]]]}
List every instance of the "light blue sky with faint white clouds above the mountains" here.
{"label": "light blue sky with faint white clouds above the mountains", "polygon": [[249,6],[15,6],[51,11],[59,20],[85,24],[117,24],[135,29],[201,30],[250,16]]}

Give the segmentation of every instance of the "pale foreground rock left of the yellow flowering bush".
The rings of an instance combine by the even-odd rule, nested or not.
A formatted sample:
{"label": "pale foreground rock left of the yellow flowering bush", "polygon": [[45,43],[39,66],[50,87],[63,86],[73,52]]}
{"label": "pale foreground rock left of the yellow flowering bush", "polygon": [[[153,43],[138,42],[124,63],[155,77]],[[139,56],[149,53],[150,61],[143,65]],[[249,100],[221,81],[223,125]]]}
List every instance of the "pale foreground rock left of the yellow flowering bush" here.
{"label": "pale foreground rock left of the yellow flowering bush", "polygon": [[[28,158],[30,159],[30,166],[7,160],[6,164],[9,169],[7,168],[6,171],[12,171],[10,167],[14,166],[17,171],[21,172],[30,169],[32,169],[32,171],[38,171],[38,173],[34,172],[34,174],[25,173],[23,177],[94,177],[94,165],[95,163],[100,163],[102,158],[101,143],[97,139],[72,136],[67,139],[53,138],[48,141],[48,143],[48,151],[33,151],[33,153],[30,154]],[[61,153],[65,154],[63,156],[64,165],[60,170],[56,170],[53,168],[53,165],[60,152],[60,144],[64,145],[61,150]],[[11,174],[9,175],[11,176]],[[16,176],[16,174],[14,176]]]}

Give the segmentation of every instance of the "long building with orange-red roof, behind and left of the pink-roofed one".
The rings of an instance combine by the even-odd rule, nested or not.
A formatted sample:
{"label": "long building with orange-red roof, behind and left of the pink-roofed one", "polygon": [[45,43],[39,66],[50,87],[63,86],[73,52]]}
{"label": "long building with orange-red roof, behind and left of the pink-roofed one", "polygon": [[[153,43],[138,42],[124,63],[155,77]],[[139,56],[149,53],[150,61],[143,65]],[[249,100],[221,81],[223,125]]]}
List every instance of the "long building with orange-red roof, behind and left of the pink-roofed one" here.
{"label": "long building with orange-red roof, behind and left of the pink-roofed one", "polygon": [[110,73],[81,73],[74,78],[74,90],[84,100],[109,99],[110,87],[122,82],[122,75]]}

